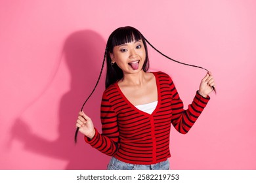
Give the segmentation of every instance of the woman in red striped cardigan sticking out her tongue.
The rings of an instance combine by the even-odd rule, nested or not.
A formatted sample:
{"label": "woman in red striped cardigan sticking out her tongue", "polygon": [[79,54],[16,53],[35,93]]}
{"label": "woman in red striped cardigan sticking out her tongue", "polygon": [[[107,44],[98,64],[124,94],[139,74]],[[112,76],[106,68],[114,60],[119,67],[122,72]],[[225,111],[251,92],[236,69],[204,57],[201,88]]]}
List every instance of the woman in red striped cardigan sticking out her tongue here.
{"label": "woman in red striped cardigan sticking out her tongue", "polygon": [[147,72],[146,39],[137,29],[116,29],[108,39],[105,56],[102,133],[84,112],[79,112],[76,127],[85,135],[85,142],[112,156],[108,169],[169,169],[171,124],[180,133],[189,131],[209,101],[213,76],[208,72],[203,77],[184,110],[170,76]]}

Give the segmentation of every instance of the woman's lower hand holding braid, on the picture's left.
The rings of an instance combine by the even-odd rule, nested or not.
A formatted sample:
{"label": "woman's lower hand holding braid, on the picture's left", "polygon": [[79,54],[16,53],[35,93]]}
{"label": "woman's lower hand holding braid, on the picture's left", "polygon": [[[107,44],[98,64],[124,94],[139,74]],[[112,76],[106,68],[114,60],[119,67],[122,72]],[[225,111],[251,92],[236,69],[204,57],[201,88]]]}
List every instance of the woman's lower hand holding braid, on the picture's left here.
{"label": "woman's lower hand holding braid, on the picture's left", "polygon": [[89,139],[93,139],[93,137],[95,136],[93,121],[91,120],[91,118],[89,118],[89,116],[85,115],[83,111],[80,111],[78,113],[76,127],[79,127],[79,131]]}

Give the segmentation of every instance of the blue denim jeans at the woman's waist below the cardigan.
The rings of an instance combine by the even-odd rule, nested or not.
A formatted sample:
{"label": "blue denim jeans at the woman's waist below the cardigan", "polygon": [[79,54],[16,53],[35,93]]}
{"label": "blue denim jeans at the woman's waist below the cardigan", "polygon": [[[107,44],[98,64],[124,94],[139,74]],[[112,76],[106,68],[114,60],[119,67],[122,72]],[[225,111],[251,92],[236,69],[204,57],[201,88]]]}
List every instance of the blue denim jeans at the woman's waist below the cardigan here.
{"label": "blue denim jeans at the woman's waist below the cardigan", "polygon": [[169,170],[169,160],[152,165],[137,165],[125,163],[112,157],[108,163],[108,170]]}

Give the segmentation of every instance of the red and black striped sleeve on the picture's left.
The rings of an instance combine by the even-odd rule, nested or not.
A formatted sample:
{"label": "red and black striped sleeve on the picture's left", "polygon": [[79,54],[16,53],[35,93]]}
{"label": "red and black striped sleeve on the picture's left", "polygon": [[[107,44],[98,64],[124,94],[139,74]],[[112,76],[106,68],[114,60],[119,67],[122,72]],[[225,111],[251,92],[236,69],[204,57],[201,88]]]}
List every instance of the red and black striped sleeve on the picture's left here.
{"label": "red and black striped sleeve on the picture's left", "polygon": [[117,116],[112,105],[107,98],[106,93],[102,96],[102,102],[100,106],[100,119],[102,123],[102,134],[96,133],[93,139],[85,137],[85,142],[91,144],[93,148],[96,148],[100,152],[113,156],[119,148],[119,130],[117,125]]}

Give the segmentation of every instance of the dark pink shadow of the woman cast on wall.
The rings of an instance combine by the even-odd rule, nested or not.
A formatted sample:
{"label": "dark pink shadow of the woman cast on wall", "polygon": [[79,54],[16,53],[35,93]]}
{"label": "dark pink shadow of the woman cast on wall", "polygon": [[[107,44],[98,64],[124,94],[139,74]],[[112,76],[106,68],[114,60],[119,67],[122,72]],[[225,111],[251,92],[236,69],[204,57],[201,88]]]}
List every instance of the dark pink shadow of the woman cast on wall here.
{"label": "dark pink shadow of the woman cast on wall", "polygon": [[[60,102],[58,139],[48,141],[33,134],[27,125],[32,122],[22,121],[22,116],[12,127],[12,139],[24,142],[24,148],[28,151],[67,161],[68,165],[64,169],[106,169],[110,158],[86,144],[81,133],[77,137],[78,143],[74,144],[77,114],[95,86],[105,46],[106,41],[95,31],[83,30],[72,33],[66,39],[63,48],[72,78],[70,91],[62,96]],[[98,88],[83,109],[98,129],[101,129],[100,101],[103,91],[104,77],[100,79]]]}

